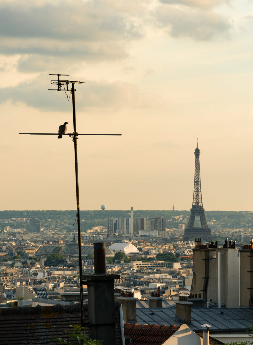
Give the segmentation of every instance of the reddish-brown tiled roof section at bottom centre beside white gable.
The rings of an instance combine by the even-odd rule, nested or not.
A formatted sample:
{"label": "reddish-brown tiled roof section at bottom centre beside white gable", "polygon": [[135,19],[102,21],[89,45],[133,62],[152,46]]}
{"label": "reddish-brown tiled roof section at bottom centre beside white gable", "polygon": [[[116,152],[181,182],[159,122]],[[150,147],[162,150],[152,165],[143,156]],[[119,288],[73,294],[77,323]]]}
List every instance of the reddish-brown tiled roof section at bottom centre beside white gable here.
{"label": "reddish-brown tiled roof section at bottom centre beside white gable", "polygon": [[158,325],[133,325],[126,323],[124,325],[124,334],[126,345],[161,345],[172,334],[174,334],[180,326],[158,326]]}

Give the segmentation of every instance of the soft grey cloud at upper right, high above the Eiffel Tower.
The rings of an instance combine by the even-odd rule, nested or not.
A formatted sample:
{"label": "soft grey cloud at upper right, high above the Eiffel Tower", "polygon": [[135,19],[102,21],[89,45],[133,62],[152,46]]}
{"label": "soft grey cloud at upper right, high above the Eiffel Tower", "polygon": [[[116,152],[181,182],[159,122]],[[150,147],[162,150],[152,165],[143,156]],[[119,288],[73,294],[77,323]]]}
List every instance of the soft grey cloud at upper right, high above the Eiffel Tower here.
{"label": "soft grey cloud at upper right, high above the Eiffel Tower", "polygon": [[212,11],[159,6],[155,17],[157,26],[165,28],[175,38],[209,41],[229,37],[230,22]]}

